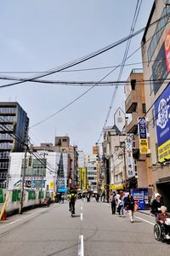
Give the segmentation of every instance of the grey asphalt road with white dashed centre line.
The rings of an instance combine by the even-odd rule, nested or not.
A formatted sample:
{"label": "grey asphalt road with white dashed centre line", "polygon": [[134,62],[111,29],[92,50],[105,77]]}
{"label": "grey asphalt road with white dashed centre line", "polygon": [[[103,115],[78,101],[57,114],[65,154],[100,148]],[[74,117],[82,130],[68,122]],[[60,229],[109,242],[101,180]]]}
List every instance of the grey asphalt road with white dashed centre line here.
{"label": "grey asphalt road with white dashed centre line", "polygon": [[73,218],[67,202],[37,208],[0,222],[0,255],[169,255],[170,244],[155,240],[154,218],[135,215],[131,224],[95,201],[77,201]]}

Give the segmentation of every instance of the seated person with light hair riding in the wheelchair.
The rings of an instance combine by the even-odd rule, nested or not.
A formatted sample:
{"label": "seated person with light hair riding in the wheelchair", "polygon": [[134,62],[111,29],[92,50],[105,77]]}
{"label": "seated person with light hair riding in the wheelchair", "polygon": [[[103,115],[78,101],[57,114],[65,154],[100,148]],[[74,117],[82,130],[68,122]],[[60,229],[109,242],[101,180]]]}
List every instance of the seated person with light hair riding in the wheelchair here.
{"label": "seated person with light hair riding in the wheelchair", "polygon": [[[167,219],[169,218],[169,221]],[[161,213],[156,216],[156,223],[163,224],[165,236],[170,239],[170,214],[167,213],[167,207],[161,206]]]}

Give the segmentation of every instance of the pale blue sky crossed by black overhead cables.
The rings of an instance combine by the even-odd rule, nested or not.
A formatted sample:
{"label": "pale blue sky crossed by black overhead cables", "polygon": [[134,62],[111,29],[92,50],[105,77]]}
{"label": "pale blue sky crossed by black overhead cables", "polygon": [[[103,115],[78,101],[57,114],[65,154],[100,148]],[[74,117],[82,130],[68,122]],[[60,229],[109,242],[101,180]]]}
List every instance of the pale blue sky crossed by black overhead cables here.
{"label": "pale blue sky crossed by black overhead cables", "polygon": [[[33,74],[77,60],[127,37],[137,2],[137,0],[1,0],[0,77],[29,78]],[[134,31],[146,26],[153,2],[154,0],[143,0]],[[143,34],[144,32],[132,39],[128,55],[139,48]],[[44,79],[99,81],[111,72],[111,68],[69,71],[116,66],[122,62],[125,48],[126,43],[120,44],[89,61]],[[127,60],[127,63],[141,61],[139,50]],[[140,67],[141,64],[124,67],[121,80],[127,80],[132,69]],[[119,71],[120,68],[116,68],[115,72],[105,78],[105,81],[116,81]],[[0,80],[0,85],[9,83],[11,81]],[[0,102],[19,102],[26,110],[31,127],[64,108],[88,88],[26,82],[0,89]],[[54,143],[55,136],[68,134],[72,145],[77,145],[80,150],[89,154],[102,131],[114,88],[114,86],[94,87],[69,108],[65,108],[41,125],[30,128],[29,135],[32,142],[36,145]],[[124,88],[120,85],[107,125],[113,125],[113,115],[118,107],[124,110],[124,101]]]}

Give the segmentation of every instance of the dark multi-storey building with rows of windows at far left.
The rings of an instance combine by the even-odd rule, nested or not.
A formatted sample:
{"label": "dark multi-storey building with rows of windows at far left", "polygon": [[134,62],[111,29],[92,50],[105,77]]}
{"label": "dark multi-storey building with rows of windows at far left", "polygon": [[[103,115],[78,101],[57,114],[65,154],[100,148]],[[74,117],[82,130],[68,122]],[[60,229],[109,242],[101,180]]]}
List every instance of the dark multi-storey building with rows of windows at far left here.
{"label": "dark multi-storey building with rows of windows at far left", "polygon": [[28,125],[18,102],[0,102],[0,188],[7,187],[9,153],[24,151]]}

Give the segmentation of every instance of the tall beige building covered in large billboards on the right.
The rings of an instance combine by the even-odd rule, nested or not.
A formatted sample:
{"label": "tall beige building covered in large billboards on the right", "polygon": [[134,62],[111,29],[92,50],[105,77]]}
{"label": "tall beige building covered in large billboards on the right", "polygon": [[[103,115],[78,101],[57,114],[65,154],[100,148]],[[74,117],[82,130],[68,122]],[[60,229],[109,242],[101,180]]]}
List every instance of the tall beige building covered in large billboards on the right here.
{"label": "tall beige building covered in large billboards on the right", "polygon": [[170,207],[169,15],[169,1],[155,1],[141,43],[144,80],[150,81],[144,83],[150,133],[150,170],[154,192],[158,191],[163,196],[167,207]]}

